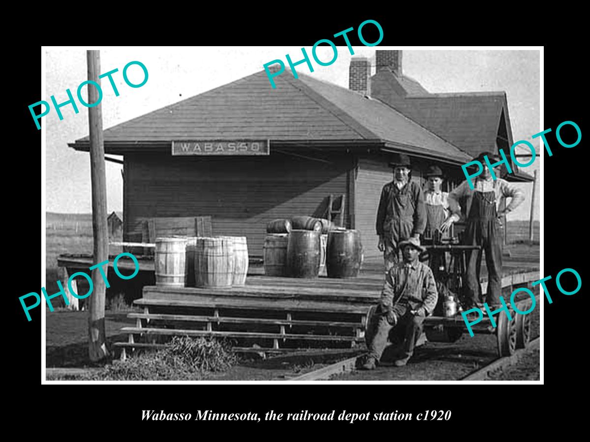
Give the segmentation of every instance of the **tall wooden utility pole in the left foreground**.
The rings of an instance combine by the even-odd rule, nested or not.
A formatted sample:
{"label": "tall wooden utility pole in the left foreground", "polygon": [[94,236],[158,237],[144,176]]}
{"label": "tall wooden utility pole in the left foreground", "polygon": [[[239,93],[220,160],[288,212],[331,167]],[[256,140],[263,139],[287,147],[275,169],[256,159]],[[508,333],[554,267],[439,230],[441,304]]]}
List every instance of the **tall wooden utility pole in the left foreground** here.
{"label": "tall wooden utility pole in the left foreground", "polygon": [[[100,87],[100,51],[86,51],[88,79]],[[88,102],[99,101],[99,90],[88,85]],[[92,184],[92,230],[94,235],[94,264],[109,259],[109,232],[107,229],[106,171],[104,166],[102,105],[88,110],[90,128],[90,179]],[[108,267],[107,267],[108,268]],[[90,295],[88,318],[89,355],[91,361],[100,361],[109,354],[104,329],[104,302],[106,287],[98,268],[92,271],[94,290]]]}

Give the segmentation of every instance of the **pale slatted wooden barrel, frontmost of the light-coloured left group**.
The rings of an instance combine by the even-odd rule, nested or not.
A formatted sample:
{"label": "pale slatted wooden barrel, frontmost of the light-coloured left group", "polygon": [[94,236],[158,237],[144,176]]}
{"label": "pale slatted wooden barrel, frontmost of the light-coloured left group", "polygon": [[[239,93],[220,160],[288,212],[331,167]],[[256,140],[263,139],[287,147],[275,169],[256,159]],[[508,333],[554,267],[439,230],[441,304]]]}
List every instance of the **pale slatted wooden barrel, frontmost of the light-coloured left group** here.
{"label": "pale slatted wooden barrel, frontmost of the light-coloured left group", "polygon": [[231,287],[234,281],[234,242],[229,238],[197,238],[195,286]]}

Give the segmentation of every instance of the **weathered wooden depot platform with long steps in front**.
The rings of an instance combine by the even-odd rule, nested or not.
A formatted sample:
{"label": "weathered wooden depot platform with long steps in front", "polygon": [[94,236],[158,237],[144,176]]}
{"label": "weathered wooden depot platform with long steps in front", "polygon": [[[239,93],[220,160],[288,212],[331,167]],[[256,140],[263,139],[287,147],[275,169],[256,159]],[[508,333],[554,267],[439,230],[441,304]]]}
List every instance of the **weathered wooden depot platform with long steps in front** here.
{"label": "weathered wooden depot platform with long steps in front", "polygon": [[[371,265],[353,279],[296,279],[248,276],[244,287],[228,289],[146,286],[130,313],[135,327],[124,327],[125,348],[159,347],[171,335],[227,338],[239,352],[286,352],[304,348],[350,348],[363,345],[366,315],[381,295],[383,273]],[[539,279],[527,266],[506,268],[504,296],[513,285]],[[483,281],[483,289],[487,283]],[[463,322],[431,316],[432,322]],[[488,321],[474,327],[485,332]],[[136,339],[139,338],[139,341]],[[139,344],[138,344],[139,342]]]}

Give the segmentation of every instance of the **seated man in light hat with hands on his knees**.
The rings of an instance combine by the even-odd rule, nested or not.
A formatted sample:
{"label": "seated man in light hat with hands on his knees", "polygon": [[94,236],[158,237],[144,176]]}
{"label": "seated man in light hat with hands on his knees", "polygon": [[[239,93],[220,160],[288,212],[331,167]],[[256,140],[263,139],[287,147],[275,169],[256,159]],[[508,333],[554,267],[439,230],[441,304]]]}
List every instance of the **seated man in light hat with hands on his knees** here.
{"label": "seated man in light hat with hands on his knees", "polygon": [[438,292],[430,267],[419,262],[418,255],[424,252],[418,238],[399,243],[404,260],[396,263],[385,276],[378,312],[381,314],[375,325],[375,335],[369,344],[369,355],[363,369],[373,370],[387,345],[392,328],[404,331],[404,355],[394,362],[403,367],[414,354],[414,347],[422,332],[422,322],[437,305]]}

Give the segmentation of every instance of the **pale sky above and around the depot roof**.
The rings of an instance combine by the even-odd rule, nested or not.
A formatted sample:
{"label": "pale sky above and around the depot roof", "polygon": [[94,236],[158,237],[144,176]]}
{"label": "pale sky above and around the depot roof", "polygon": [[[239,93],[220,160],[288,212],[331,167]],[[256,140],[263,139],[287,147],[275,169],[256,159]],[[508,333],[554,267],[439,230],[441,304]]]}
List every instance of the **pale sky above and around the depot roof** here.
{"label": "pale sky above and around the depot roof", "polygon": [[[353,47],[354,56],[374,57],[376,49],[400,49],[394,47]],[[537,152],[539,138],[531,140],[540,127],[540,54],[537,50],[404,50],[402,71],[417,80],[430,93],[506,91],[510,122],[514,140],[531,141]],[[337,47],[336,61],[326,67],[314,63],[314,72],[306,64],[297,68],[319,80],[348,88],[348,48]],[[306,47],[308,54],[311,48]],[[113,80],[119,90],[117,97],[109,81],[103,78],[103,128],[109,128],[132,118],[180,100],[204,93],[232,81],[263,70],[267,62],[281,59],[285,54],[293,61],[300,60],[301,47],[101,47],[102,73],[118,69]],[[330,47],[319,47],[320,60],[333,57]],[[313,60],[313,59],[312,59]],[[139,88],[129,87],[123,80],[123,67],[130,61],[142,62],[148,70],[148,81]],[[312,61],[313,62],[313,61]],[[287,71],[288,65],[287,65]],[[374,67],[373,67],[374,71]],[[140,67],[134,65],[127,71],[132,83],[143,80]],[[291,75],[284,72],[283,75]],[[61,107],[63,120],[59,120],[54,108],[42,118],[46,127],[45,151],[45,209],[48,212],[91,212],[90,157],[67,146],[88,135],[88,108],[76,97],[78,85],[87,80],[86,48],[45,47],[45,97],[55,95],[57,103],[67,101],[65,90],[70,89],[77,101],[79,113],[71,105]],[[269,83],[270,87],[270,83]],[[87,100],[86,87],[82,97]],[[34,120],[31,118],[31,124]],[[523,153],[528,150],[523,149]],[[521,160],[523,163],[526,159]],[[539,168],[539,159],[523,169],[533,174]],[[122,165],[106,162],[107,210],[123,209]],[[529,219],[532,184],[517,184],[526,193],[525,203],[510,214],[509,219]],[[535,219],[539,219],[539,187]]]}

